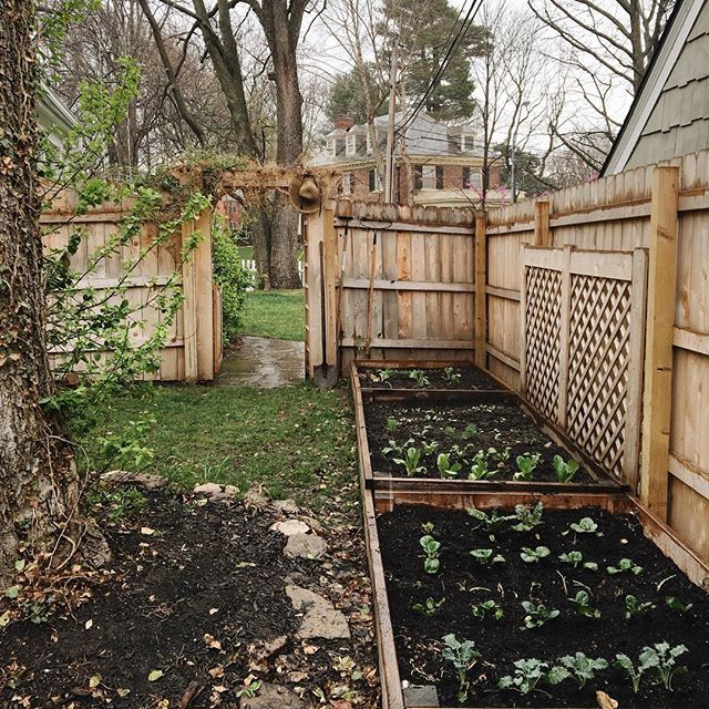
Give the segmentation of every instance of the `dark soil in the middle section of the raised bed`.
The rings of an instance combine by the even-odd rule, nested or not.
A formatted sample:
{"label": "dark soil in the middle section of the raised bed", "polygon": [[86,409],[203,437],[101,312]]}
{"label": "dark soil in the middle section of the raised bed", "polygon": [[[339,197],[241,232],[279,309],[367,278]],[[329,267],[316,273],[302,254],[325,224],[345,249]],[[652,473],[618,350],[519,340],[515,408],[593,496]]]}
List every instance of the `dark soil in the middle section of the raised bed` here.
{"label": "dark soil in the middle section of the raised bed", "polygon": [[[491,480],[512,480],[517,471],[517,455],[538,453],[541,460],[532,481],[556,482],[552,460],[555,455],[561,455],[565,461],[571,458],[516,404],[407,407],[397,402],[374,401],[364,404],[364,418],[372,470],[390,472],[400,477],[405,477],[407,471],[394,463],[394,459],[403,456],[398,452],[382,453],[386,448],[391,448],[390,441],[404,450],[412,446],[421,449],[421,465],[425,471],[417,473],[415,477],[440,477],[436,465],[439,453],[451,453],[451,463],[462,464],[458,479],[465,480],[477,451],[487,451],[490,448],[504,451],[510,448],[506,461],[489,456],[489,469],[497,470]],[[390,419],[397,422],[393,431],[388,423]],[[469,429],[471,424],[475,427],[474,432]],[[434,450],[425,454],[424,443],[435,444]],[[572,480],[572,483],[580,484],[594,482],[583,466]]]}

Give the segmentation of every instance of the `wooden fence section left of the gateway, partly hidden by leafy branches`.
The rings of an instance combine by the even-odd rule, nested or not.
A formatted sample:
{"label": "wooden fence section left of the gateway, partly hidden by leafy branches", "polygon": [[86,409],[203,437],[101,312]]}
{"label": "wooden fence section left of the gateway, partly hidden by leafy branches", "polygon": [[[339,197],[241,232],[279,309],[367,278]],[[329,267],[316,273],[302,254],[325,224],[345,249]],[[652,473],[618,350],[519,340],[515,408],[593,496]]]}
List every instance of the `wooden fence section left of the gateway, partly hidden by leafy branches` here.
{"label": "wooden fence section left of the gateway, partly hidden by leafy branches", "polygon": [[[130,205],[106,203],[74,214],[75,197],[64,192],[50,209],[41,216],[45,249],[64,248],[69,237],[78,228],[85,230],[79,249],[71,258],[72,270],[83,274],[76,288],[84,289],[125,287],[125,298],[131,304],[133,327],[130,339],[140,345],[154,331],[161,312],[156,300],[177,271],[177,288],[184,300],[175,321],[169,326],[167,341],[161,351],[160,371],[146,374],[145,379],[158,381],[212,380],[222,359],[222,305],[218,288],[212,282],[210,213],[205,212],[197,220],[183,225],[165,243],[151,248],[156,235],[156,225],[143,225],[140,239],[123,246],[120,253],[101,259],[89,268],[92,254],[110,244],[119,230],[120,222],[129,213]],[[202,232],[203,239],[189,260],[181,257],[183,243],[194,233]],[[141,258],[141,253],[144,253]],[[126,265],[137,265],[126,273]],[[96,351],[93,354],[101,356]],[[50,352],[53,366],[62,360],[61,351]]]}

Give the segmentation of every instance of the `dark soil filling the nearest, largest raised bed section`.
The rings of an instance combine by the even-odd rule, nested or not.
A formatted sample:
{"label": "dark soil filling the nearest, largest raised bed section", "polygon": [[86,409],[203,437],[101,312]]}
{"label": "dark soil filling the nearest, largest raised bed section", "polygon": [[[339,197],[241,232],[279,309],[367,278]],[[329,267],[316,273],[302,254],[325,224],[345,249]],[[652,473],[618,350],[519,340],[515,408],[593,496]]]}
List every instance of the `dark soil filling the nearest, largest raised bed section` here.
{"label": "dark soil filling the nearest, largest raised bed section", "polygon": [[[603,536],[565,534],[571,523],[589,516]],[[431,533],[441,543],[441,566],[436,575],[423,571],[419,540],[422,524],[432,522]],[[459,640],[475,641],[481,658],[469,672],[473,707],[596,707],[595,691],[603,690],[619,701],[623,709],[706,709],[709,706],[709,596],[692,585],[672,562],[662,556],[643,536],[633,515],[613,516],[599,508],[544,512],[543,524],[533,532],[512,531],[503,523],[494,540],[477,528],[465,512],[445,512],[430,507],[400,506],[379,518],[379,538],[383,555],[399,668],[402,680],[413,685],[435,685],[441,706],[458,706],[456,677],[452,666],[441,659],[441,639],[454,633]],[[551,555],[537,563],[524,563],[523,546],[546,546]],[[506,559],[483,566],[471,555],[474,548],[493,548]],[[583,553],[584,561],[596,562],[598,571],[574,569],[558,556],[569,551]],[[609,575],[608,565],[630,558],[643,567],[639,575]],[[599,619],[580,616],[568,603],[578,590],[590,594],[590,605],[602,612]],[[630,594],[656,607],[626,619],[625,598]],[[666,598],[675,596],[693,604],[686,614],[672,610]],[[411,609],[428,597],[445,598],[440,612],[425,617]],[[501,620],[476,619],[471,605],[495,599],[504,612]],[[544,603],[561,615],[541,628],[524,627],[523,600]],[[640,690],[619,669],[596,672],[595,679],[578,689],[574,679],[552,687],[540,685],[553,699],[541,692],[523,696],[497,689],[497,681],[513,672],[513,662],[537,658],[549,664],[558,658],[585,653],[588,657],[615,660],[617,653],[636,664],[645,646],[668,641],[684,644],[688,651],[678,665],[688,668],[677,675],[674,691],[654,685],[654,675],[644,675]]]}

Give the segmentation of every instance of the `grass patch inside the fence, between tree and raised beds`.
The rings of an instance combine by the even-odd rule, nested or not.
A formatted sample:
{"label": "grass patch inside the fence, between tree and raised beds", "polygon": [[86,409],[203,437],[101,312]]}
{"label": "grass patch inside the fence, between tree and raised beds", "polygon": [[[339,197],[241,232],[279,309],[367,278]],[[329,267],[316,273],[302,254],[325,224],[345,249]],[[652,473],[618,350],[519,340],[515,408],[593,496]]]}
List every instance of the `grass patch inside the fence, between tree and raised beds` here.
{"label": "grass patch inside the fence, between tree and raised beds", "polygon": [[[259,483],[276,499],[341,508],[357,501],[353,419],[347,392],[309,383],[278,389],[136,386],[102,410],[102,422],[81,444],[94,469],[99,436],[154,417],[145,445],[147,472],[182,489],[204,482]],[[100,419],[101,420],[101,419]]]}

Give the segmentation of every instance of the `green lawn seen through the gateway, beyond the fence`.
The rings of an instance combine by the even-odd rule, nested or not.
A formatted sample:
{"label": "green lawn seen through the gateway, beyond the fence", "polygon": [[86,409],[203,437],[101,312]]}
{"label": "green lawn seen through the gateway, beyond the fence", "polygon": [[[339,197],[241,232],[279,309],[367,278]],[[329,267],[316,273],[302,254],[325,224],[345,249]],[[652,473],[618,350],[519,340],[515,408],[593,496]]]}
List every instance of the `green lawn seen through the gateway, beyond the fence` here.
{"label": "green lawn seen through the gateway, beyond the fence", "polygon": [[305,296],[297,290],[253,290],[246,296],[243,335],[305,340]]}

